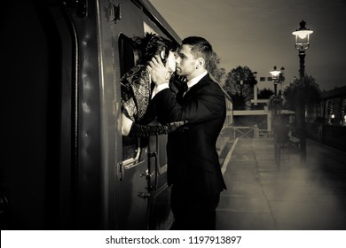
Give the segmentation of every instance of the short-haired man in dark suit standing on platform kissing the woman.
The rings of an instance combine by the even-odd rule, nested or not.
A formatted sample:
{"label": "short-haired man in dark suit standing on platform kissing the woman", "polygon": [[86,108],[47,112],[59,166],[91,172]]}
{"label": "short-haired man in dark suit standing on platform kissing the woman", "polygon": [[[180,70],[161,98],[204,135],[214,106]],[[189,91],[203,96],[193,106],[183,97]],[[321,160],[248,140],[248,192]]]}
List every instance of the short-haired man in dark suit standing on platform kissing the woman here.
{"label": "short-haired man in dark suit standing on platform kissing the woman", "polygon": [[161,123],[188,124],[169,134],[168,184],[172,185],[173,229],[216,229],[216,206],[226,189],[216,139],[225,119],[224,92],[207,71],[212,47],[204,38],[187,37],[177,51],[177,74],[187,79],[187,90],[169,90],[160,58],[147,67],[156,84],[153,97]]}

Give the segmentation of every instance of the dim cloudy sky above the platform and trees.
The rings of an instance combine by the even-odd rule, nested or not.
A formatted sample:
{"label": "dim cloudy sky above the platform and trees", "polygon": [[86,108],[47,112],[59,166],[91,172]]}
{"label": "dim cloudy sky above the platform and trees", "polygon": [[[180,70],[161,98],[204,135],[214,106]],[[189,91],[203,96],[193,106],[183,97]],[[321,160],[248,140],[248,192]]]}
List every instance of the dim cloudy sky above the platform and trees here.
{"label": "dim cloudy sky above the platform and trees", "polygon": [[[305,73],[320,89],[346,86],[346,0],[150,0],[181,38],[205,37],[226,72],[248,66],[259,77],[285,67],[285,84],[299,77],[295,36],[302,19],[311,35]],[[260,88],[272,87],[259,81]]]}

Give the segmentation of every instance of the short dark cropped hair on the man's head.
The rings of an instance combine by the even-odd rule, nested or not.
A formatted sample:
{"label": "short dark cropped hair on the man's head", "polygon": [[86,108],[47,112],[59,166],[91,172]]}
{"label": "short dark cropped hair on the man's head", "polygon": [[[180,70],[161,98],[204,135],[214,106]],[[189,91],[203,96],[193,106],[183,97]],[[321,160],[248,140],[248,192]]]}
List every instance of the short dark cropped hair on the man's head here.
{"label": "short dark cropped hair on the man's head", "polygon": [[191,45],[191,51],[194,58],[204,58],[206,65],[208,65],[209,60],[213,54],[213,48],[208,41],[199,36],[190,36],[183,40],[183,45]]}

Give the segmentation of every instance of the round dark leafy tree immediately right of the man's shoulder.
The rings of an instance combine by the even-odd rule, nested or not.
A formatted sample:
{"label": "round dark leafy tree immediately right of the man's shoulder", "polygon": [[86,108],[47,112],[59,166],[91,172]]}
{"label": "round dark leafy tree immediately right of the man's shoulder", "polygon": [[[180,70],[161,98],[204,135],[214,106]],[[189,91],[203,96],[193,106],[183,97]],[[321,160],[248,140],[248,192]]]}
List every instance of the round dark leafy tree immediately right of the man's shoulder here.
{"label": "round dark leafy tree immediately right of the man's shoulder", "polygon": [[248,66],[233,68],[226,75],[224,90],[232,97],[234,110],[250,108],[256,83],[255,75]]}

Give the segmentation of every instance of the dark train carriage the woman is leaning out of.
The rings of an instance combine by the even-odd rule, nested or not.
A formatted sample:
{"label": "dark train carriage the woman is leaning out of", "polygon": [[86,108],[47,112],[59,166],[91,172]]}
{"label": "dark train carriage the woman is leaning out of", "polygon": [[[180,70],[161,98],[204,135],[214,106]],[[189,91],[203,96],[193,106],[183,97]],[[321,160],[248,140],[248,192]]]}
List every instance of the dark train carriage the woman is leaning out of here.
{"label": "dark train carriage the woman is leaning out of", "polygon": [[177,34],[146,0],[3,7],[1,229],[169,229],[167,136],[122,137],[120,78]]}

